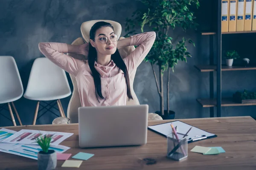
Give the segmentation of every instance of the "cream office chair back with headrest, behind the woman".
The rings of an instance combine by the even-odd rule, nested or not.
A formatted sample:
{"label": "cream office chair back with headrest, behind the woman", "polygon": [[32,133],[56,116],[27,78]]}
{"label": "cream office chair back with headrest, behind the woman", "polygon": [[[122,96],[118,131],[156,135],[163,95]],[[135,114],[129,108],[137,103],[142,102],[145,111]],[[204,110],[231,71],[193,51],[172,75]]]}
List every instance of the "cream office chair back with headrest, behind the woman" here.
{"label": "cream office chair back with headrest, behind the woman", "polygon": [[[119,23],[117,23],[115,21],[111,21],[111,20],[91,20],[91,21],[87,21],[87,22],[84,22],[81,24],[81,34],[82,34],[82,37],[84,38],[84,40],[81,37],[79,37],[72,42],[72,45],[82,45],[85,42],[89,42],[90,28],[93,26],[94,23],[99,22],[99,21],[105,21],[105,22],[111,23],[111,25],[114,27],[114,31],[115,31],[115,34],[117,35],[118,39],[121,40],[124,38],[124,37],[120,37],[122,27]],[[126,57],[134,50],[135,50],[134,46],[128,46],[128,47],[118,49],[122,58]],[[67,55],[70,55],[71,57],[75,57],[77,59],[83,58],[83,56],[79,55],[79,54],[71,54],[70,53]],[[134,82],[135,74],[136,74],[136,70],[134,70],[133,73],[131,75],[129,75],[131,94],[133,96],[133,100],[128,101],[128,97],[127,97],[126,105],[140,105],[139,100],[138,100],[138,98],[134,92],[134,89],[133,89],[133,82]],[[72,80],[74,89],[73,89],[73,93],[72,93],[72,96],[71,96],[71,99],[70,99],[70,102],[69,102],[69,105],[67,108],[67,117],[70,119],[70,123],[78,123],[78,108],[81,107],[81,102],[80,102],[80,98],[79,98],[79,91],[77,88],[76,78],[73,77],[73,75],[71,75],[71,74],[70,74],[70,78]]]}

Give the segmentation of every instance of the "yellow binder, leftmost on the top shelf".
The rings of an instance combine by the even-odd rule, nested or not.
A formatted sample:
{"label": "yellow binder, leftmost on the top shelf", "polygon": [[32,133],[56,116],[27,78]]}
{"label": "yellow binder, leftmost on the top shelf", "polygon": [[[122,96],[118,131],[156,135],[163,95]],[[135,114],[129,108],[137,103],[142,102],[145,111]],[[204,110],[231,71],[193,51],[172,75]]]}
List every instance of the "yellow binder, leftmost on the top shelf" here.
{"label": "yellow binder, leftmost on the top shelf", "polygon": [[229,0],[221,0],[221,32],[228,32]]}

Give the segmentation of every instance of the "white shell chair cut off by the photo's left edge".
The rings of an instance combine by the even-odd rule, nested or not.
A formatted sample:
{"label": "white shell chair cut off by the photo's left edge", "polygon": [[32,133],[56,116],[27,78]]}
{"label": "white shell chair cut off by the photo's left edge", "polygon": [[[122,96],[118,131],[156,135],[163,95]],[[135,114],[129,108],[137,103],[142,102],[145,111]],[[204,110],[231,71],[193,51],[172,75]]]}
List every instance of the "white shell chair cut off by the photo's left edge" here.
{"label": "white shell chair cut off by the photo's left edge", "polygon": [[15,59],[12,56],[0,56],[0,105],[2,105],[0,106],[0,111],[5,109],[7,103],[14,126],[16,126],[16,122],[12,113],[10,103],[12,103],[12,107],[15,111],[17,119],[20,125],[22,125],[20,121],[20,116],[13,103],[14,101],[20,99],[22,95],[23,85],[20,79],[20,74]]}

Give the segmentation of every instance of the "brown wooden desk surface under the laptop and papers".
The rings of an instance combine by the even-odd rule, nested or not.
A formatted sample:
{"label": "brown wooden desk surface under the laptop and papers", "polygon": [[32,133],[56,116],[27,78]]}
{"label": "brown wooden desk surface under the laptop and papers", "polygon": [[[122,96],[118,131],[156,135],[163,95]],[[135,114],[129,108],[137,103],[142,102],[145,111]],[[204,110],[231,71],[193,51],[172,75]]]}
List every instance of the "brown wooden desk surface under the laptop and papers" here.
{"label": "brown wooden desk surface under the laptop and papers", "polygon": [[[181,119],[195,127],[218,135],[216,138],[193,142],[188,145],[188,158],[183,161],[173,161],[166,157],[166,138],[148,130],[148,143],[139,147],[108,147],[96,149],[80,149],[78,142],[78,124],[70,125],[27,125],[21,127],[6,127],[12,130],[34,129],[74,133],[61,144],[71,147],[66,153],[87,152],[95,155],[83,161],[80,169],[87,170],[140,170],[140,169],[182,169],[182,170],[255,170],[256,169],[256,121],[250,116],[223,117],[205,119]],[[156,125],[170,121],[148,122]],[[221,146],[226,153],[219,155],[202,155],[190,150],[195,146]],[[156,164],[146,165],[144,158],[157,160]],[[64,161],[58,161],[56,169],[61,168]],[[37,161],[21,156],[0,152],[0,169],[36,170]],[[77,168],[74,168],[76,170]]]}

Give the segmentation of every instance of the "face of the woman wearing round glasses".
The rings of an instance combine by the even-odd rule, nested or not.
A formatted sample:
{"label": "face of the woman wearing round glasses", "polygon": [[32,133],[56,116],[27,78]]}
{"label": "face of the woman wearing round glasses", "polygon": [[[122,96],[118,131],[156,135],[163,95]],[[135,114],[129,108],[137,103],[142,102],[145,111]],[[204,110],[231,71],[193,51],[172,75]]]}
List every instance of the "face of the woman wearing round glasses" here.
{"label": "face of the woman wearing round glasses", "polygon": [[99,28],[94,39],[95,41],[90,39],[90,43],[96,48],[97,53],[111,55],[116,52],[117,37],[111,27]]}

